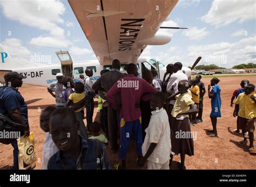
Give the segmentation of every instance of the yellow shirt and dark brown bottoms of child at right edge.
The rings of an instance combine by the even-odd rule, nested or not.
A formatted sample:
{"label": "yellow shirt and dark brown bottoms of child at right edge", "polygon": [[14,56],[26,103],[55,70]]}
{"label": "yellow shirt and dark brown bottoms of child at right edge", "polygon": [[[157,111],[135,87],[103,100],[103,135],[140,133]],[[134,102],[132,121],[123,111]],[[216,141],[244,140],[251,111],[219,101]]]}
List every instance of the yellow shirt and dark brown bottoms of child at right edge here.
{"label": "yellow shirt and dark brown bottoms of child at right edge", "polygon": [[255,118],[256,118],[256,104],[251,99],[251,96],[255,93],[250,93],[246,95],[245,93],[240,93],[235,100],[235,104],[239,105],[238,110],[238,124],[239,129],[246,130],[247,132],[254,132],[255,130]]}

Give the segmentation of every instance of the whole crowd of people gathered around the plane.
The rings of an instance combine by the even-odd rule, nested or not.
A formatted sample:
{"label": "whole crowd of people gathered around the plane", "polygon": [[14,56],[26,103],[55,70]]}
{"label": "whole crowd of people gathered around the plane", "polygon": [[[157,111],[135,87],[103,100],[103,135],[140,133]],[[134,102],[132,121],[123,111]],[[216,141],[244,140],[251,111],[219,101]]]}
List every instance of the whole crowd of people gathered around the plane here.
{"label": "whole crowd of people gathered around the plane", "polygon": [[[191,80],[182,67],[180,62],[167,65],[163,80],[156,70],[143,69],[140,78],[136,64],[127,64],[126,75],[119,71],[120,62],[115,59],[111,70],[102,70],[94,84],[91,69],[85,70],[86,77],[81,74],[73,79],[58,73],[57,82],[48,87],[56,98],[56,106],[46,107],[40,116],[40,127],[45,132],[42,169],[126,169],[131,139],[136,142],[138,157],[134,162],[139,167],[147,163],[147,169],[170,169],[173,156],[180,154],[179,168],[186,169],[185,155],[194,155],[191,127],[203,122],[206,89],[200,75]],[[17,89],[22,86],[23,78],[26,77],[16,72],[4,76],[6,85],[0,89],[0,113],[23,124],[26,127],[23,135],[27,136],[28,107]],[[214,77],[207,87],[212,108],[210,137],[218,137],[219,81]],[[242,80],[241,88],[235,90],[231,98],[231,107],[236,98],[233,116],[238,116],[234,133],[242,134],[244,140],[239,144],[246,146],[248,132],[250,153],[256,153],[254,89],[248,80]],[[93,121],[96,95],[99,121]],[[13,169],[18,169],[17,141],[11,145],[14,147]],[[107,145],[113,153],[118,152],[120,162],[113,166],[107,157]]]}

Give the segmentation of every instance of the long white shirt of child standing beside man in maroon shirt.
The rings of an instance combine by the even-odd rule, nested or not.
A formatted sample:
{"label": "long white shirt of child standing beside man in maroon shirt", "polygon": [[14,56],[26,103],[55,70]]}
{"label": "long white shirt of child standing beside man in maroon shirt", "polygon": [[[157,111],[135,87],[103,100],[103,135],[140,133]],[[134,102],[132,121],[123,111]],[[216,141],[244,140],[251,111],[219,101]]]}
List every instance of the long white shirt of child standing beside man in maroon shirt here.
{"label": "long white shirt of child standing beside man in maroon shirt", "polygon": [[147,158],[153,163],[163,164],[170,160],[171,132],[166,111],[161,108],[158,112],[152,111],[149,127],[146,128],[146,136],[142,145],[142,153],[145,156],[151,143],[157,143],[152,154]]}

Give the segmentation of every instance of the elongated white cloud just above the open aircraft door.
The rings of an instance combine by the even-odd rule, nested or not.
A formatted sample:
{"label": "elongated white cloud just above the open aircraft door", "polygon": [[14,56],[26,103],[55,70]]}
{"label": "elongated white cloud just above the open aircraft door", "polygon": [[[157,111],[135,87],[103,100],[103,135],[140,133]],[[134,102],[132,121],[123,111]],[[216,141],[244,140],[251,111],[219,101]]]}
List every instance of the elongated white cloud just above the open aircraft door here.
{"label": "elongated white cloud just above the open aircraft door", "polygon": [[37,38],[32,38],[30,40],[30,44],[45,47],[65,48],[71,45],[71,42],[65,38],[43,37],[40,35]]}

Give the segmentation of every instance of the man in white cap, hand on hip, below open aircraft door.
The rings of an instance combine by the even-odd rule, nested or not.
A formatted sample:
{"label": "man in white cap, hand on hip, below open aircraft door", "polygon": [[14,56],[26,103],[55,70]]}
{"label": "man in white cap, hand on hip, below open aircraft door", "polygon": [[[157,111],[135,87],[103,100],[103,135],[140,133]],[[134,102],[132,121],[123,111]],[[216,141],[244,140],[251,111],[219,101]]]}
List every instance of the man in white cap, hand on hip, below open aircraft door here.
{"label": "man in white cap, hand on hip, below open aircraft door", "polygon": [[[65,105],[65,99],[64,99],[64,93],[66,88],[62,84],[62,73],[56,74],[57,82],[53,82],[48,86],[48,92],[52,95],[52,97],[55,97],[56,99],[56,108],[63,107]],[[55,92],[55,94],[53,93]]]}

